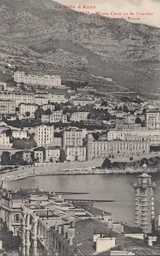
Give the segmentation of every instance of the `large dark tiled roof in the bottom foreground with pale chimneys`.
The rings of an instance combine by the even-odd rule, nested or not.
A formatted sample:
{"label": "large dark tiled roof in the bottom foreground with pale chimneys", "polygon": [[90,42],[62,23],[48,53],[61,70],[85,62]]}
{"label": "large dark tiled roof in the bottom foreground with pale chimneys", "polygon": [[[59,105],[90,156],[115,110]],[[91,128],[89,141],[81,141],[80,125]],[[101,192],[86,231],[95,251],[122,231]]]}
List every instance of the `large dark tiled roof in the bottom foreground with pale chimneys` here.
{"label": "large dark tiled roof in the bottom foreground with pale chimneys", "polygon": [[[67,225],[72,225],[69,223]],[[63,226],[63,225],[62,225]],[[124,237],[123,234],[112,231],[107,227],[106,223],[100,222],[94,219],[79,220],[74,223],[75,238],[73,238],[73,244],[69,245],[67,239],[63,236],[63,233],[59,234],[58,230],[51,227],[52,232],[59,238],[59,240],[69,249],[70,255],[75,255],[76,249],[81,250],[81,255],[95,255],[95,243],[93,242],[93,234],[102,233],[105,237],[116,238],[116,246],[121,247],[121,250],[134,252],[135,255],[160,255],[158,248],[148,247],[145,241]],[[115,250],[116,247],[112,248]],[[103,251],[96,254],[98,256],[110,255],[109,251]]]}

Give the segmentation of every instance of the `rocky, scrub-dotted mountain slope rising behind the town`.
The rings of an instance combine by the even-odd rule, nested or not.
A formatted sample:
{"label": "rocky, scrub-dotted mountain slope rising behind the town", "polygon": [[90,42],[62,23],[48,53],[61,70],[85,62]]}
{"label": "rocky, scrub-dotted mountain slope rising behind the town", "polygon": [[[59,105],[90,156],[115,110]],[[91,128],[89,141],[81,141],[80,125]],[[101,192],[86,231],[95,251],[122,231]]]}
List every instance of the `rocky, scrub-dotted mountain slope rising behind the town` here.
{"label": "rocky, scrub-dotted mountain slope rising behind the town", "polygon": [[63,83],[88,81],[109,92],[157,92],[159,28],[56,5],[61,4],[0,0],[0,68],[8,60],[28,73],[59,74]]}

